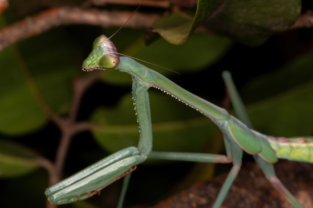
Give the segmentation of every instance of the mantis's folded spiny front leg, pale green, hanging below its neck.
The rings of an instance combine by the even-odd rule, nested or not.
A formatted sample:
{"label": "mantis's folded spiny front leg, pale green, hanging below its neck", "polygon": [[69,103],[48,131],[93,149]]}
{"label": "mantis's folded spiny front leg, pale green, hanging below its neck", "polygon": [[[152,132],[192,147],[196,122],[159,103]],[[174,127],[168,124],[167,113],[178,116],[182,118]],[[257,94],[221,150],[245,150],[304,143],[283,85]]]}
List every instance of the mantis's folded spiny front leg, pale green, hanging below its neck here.
{"label": "mantis's folded spiny front leg, pale green, hanging below its neck", "polygon": [[138,147],[120,150],[46,189],[44,194],[51,204],[61,205],[87,199],[147,159],[152,149],[147,88],[133,79],[132,94],[139,125]]}

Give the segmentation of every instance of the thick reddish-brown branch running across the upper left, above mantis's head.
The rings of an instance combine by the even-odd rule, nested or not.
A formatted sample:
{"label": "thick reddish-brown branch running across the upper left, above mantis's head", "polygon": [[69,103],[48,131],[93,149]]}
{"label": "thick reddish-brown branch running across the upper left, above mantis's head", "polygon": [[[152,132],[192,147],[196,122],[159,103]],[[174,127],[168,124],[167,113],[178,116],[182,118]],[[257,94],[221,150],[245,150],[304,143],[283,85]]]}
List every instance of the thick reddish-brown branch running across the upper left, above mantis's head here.
{"label": "thick reddish-brown branch running across the upper left, above mantis's head", "polygon": [[[0,50],[22,39],[40,34],[53,27],[70,24],[88,24],[96,26],[120,26],[131,12],[103,11],[82,9],[80,7],[60,7],[45,10],[37,15],[27,17],[0,30]],[[126,27],[149,27],[159,14],[135,13]]]}

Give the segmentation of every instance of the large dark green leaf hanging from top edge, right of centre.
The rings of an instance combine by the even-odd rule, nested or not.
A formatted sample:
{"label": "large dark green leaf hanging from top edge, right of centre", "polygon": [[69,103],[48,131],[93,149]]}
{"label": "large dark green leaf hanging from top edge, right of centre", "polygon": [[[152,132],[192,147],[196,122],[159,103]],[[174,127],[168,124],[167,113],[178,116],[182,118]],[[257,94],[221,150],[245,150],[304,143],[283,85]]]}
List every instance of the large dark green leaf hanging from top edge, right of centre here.
{"label": "large dark green leaf hanging from top edge, right of centre", "polygon": [[224,0],[204,26],[241,43],[259,45],[288,29],[300,12],[301,0]]}

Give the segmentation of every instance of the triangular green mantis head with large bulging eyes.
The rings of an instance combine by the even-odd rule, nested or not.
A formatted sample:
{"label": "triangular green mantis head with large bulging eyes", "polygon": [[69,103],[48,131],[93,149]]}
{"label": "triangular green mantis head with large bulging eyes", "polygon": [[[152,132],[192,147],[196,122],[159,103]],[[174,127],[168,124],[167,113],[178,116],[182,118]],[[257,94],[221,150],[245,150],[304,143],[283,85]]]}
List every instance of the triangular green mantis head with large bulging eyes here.
{"label": "triangular green mantis head with large bulging eyes", "polygon": [[118,66],[119,56],[115,45],[104,35],[93,41],[92,51],[82,63],[83,71],[112,69]]}

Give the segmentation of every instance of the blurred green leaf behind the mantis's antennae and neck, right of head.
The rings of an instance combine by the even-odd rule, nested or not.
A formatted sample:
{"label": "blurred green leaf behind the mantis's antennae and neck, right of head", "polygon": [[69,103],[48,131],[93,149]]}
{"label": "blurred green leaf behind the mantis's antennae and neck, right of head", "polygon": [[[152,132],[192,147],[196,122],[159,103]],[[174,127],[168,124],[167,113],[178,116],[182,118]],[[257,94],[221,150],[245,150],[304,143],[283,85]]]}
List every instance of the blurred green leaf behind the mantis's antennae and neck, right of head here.
{"label": "blurred green leaf behind the mantis's antennae and neck, right of head", "polygon": [[[195,72],[204,67],[209,67],[219,60],[231,45],[232,43],[224,38],[195,33],[183,45],[171,45],[163,39],[158,39],[152,44],[145,46],[142,38],[138,38],[123,53],[152,63],[143,64],[166,76],[173,74],[172,71]],[[153,64],[157,64],[160,67]],[[161,67],[166,67],[167,69]],[[115,72],[114,70],[105,71],[102,78],[108,83],[131,83],[131,78],[128,74]]]}

